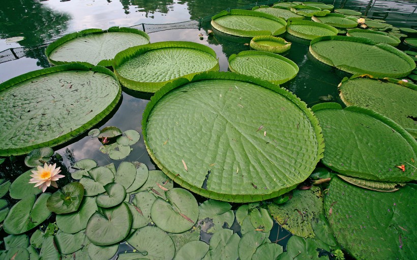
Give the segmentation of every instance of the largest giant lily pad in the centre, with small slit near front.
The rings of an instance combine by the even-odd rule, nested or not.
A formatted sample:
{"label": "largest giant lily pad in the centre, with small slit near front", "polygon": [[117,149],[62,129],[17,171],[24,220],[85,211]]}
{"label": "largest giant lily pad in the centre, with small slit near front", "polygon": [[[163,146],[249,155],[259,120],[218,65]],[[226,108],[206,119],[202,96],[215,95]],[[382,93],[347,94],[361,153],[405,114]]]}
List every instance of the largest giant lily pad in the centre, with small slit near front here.
{"label": "largest giant lily pad in the centre, with small slit near front", "polygon": [[279,196],[305,180],[323,151],[316,119],[296,96],[234,73],[166,85],[142,120],[146,148],[168,177],[232,202]]}

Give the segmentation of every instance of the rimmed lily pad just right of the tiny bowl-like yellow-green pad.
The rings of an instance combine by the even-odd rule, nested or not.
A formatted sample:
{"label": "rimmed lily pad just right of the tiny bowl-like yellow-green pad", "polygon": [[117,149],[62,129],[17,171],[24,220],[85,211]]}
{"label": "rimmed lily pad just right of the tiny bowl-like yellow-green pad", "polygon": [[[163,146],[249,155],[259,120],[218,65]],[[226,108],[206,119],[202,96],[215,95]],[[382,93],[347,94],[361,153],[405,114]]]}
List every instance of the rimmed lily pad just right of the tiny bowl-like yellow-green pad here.
{"label": "rimmed lily pad just right of the tiny bowl-like yellow-green pad", "polygon": [[290,35],[306,40],[313,40],[320,36],[334,36],[339,32],[333,26],[305,20],[288,21],[287,31]]}

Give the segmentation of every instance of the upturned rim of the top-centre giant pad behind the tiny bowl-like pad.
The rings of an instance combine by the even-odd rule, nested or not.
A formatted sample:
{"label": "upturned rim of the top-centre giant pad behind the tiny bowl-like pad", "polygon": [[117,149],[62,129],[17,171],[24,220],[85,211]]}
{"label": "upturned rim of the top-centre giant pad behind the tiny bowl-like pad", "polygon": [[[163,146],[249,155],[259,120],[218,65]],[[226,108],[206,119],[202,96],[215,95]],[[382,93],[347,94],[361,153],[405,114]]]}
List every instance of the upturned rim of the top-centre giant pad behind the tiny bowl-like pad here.
{"label": "upturned rim of the top-centre giant pad behind the tiny bowl-like pad", "polygon": [[[232,29],[232,28],[228,28],[226,26],[220,25],[216,22],[216,19],[222,16],[226,16],[226,15],[247,15],[247,16],[255,16],[255,17],[261,17],[261,18],[266,18],[266,19],[270,19],[273,21],[276,21],[278,23],[281,23],[283,25],[283,27],[281,29],[278,29],[274,32],[271,33],[271,31],[269,30],[241,30],[241,29]],[[250,10],[240,10],[240,9],[232,9],[230,10],[230,12],[222,11],[216,15],[214,15],[212,17],[212,26],[221,31],[224,32],[225,34],[230,34],[230,35],[235,35],[235,36],[240,36],[240,37],[255,37],[255,36],[260,36],[260,35],[273,35],[273,36],[277,36],[277,35],[281,35],[285,32],[285,20],[280,18],[280,17],[276,17],[274,15],[271,14],[266,14],[266,13],[262,13],[262,12],[253,12]]]}

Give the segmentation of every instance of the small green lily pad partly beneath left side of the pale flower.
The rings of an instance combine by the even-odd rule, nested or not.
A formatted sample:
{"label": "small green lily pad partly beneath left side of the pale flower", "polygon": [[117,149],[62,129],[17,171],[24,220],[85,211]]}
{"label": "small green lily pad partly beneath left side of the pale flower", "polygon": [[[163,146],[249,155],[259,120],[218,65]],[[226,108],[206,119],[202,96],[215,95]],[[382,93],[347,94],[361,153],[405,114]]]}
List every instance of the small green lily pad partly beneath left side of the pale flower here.
{"label": "small green lily pad partly beneath left side of the pale flower", "polygon": [[16,200],[21,200],[42,192],[42,190],[38,187],[34,187],[35,184],[29,183],[29,179],[32,178],[30,176],[32,174],[32,170],[36,170],[36,168],[22,173],[14,182],[12,182],[9,189],[10,197]]}

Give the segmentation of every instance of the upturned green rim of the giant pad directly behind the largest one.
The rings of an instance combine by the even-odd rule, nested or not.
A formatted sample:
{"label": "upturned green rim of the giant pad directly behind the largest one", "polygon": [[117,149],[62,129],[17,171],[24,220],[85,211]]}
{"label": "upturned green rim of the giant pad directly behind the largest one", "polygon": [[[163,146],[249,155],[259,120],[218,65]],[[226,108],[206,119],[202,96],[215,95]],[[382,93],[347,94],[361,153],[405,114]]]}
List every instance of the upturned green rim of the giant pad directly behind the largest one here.
{"label": "upturned green rim of the giant pad directly behind the largest one", "polygon": [[[208,54],[210,54],[211,56],[213,56],[215,59],[217,59],[216,56],[216,52],[205,45],[199,44],[199,43],[193,43],[193,42],[175,42],[175,41],[168,41],[168,42],[157,42],[157,43],[151,43],[151,44],[145,44],[145,45],[140,45],[140,46],[134,46],[134,47],[130,47],[124,51],[121,51],[119,53],[116,54],[116,56],[113,59],[113,63],[112,66],[114,68],[114,74],[117,76],[117,78],[120,80],[120,82],[122,83],[123,86],[132,89],[132,90],[137,90],[137,91],[143,91],[143,92],[155,92],[158,89],[160,89],[162,86],[164,86],[165,84],[174,81],[175,79],[178,78],[186,78],[191,80],[193,78],[194,75],[198,74],[198,73],[191,73],[191,74],[187,74],[184,76],[180,76],[177,77],[175,79],[172,80],[167,80],[167,81],[162,81],[162,82],[138,82],[138,81],[134,81],[134,80],[130,80],[127,79],[123,76],[121,76],[120,74],[117,73],[117,70],[120,68],[120,66],[125,63],[127,60],[136,57],[138,55],[141,55],[147,51],[153,51],[153,50],[158,50],[158,49],[163,49],[163,48],[190,48],[190,49],[195,49],[195,50],[199,50],[202,52],[206,52]],[[219,61],[217,60],[216,65],[211,68],[208,71],[219,71],[220,66],[219,66]]]}

